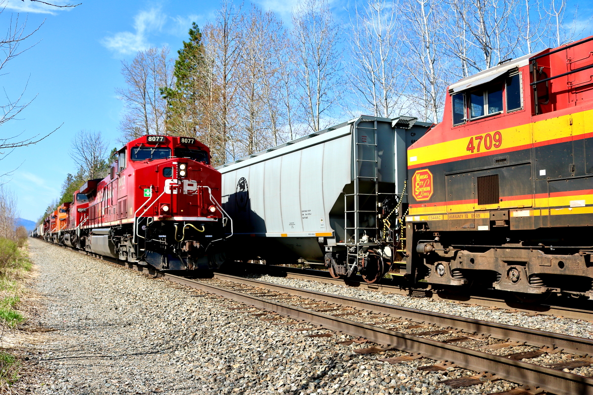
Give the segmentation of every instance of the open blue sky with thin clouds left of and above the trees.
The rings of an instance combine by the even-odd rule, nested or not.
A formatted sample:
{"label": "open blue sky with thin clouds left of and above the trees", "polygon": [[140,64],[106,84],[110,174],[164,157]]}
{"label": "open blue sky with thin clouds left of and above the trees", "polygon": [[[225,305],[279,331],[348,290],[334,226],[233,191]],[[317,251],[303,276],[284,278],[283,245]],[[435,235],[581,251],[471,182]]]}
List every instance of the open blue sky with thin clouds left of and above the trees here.
{"label": "open blue sky with thin clouds left of and above the trees", "polygon": [[[1,136],[43,135],[63,124],[42,142],[14,150],[0,161],[0,174],[17,168],[4,181],[17,195],[21,217],[29,220],[39,218],[59,196],[66,174],[75,171],[68,152],[76,131],[100,130],[111,140],[111,147],[117,145],[123,106],[115,90],[124,86],[121,60],[131,60],[139,49],[163,44],[174,54],[192,21],[203,25],[219,7],[218,0],[79,0],[74,4],[80,1],[82,5],[75,8],[55,9],[28,0],[5,0],[6,9],[0,15],[4,29],[17,12],[21,21],[27,18],[27,31],[43,23],[28,40],[29,45],[37,44],[2,69],[0,85],[9,98],[18,97],[26,85],[24,101],[34,100],[19,120],[2,126]],[[256,3],[289,21],[298,0]],[[347,0],[332,4],[342,12]],[[6,102],[3,99],[0,103]]]}

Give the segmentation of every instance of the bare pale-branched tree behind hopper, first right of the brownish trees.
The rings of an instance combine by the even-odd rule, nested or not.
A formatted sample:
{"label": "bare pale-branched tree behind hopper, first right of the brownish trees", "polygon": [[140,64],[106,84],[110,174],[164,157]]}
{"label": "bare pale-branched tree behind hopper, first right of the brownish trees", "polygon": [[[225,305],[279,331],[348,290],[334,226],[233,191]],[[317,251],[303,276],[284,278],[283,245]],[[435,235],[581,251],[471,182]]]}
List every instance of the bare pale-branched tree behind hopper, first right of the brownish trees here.
{"label": "bare pale-branched tree behind hopper, first right of the brownish trees", "polygon": [[[312,131],[323,129],[337,101],[342,82],[341,31],[333,22],[326,0],[305,0],[292,15],[297,82],[305,122]],[[322,126],[323,124],[323,126]]]}

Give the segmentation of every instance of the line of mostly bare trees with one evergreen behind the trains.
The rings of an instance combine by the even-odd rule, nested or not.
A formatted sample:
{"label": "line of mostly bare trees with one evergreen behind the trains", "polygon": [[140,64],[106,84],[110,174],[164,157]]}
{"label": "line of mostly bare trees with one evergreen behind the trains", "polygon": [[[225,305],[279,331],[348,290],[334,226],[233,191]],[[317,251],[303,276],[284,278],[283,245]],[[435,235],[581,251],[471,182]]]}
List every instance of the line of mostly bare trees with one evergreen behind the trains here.
{"label": "line of mostly bare trees with one evergreen behind the trains", "polygon": [[[223,0],[168,47],[122,62],[121,140],[197,137],[221,165],[359,114],[438,122],[446,87],[582,36],[566,0],[367,0],[337,19],[305,0],[290,26]],[[585,24],[586,25],[586,24]]]}

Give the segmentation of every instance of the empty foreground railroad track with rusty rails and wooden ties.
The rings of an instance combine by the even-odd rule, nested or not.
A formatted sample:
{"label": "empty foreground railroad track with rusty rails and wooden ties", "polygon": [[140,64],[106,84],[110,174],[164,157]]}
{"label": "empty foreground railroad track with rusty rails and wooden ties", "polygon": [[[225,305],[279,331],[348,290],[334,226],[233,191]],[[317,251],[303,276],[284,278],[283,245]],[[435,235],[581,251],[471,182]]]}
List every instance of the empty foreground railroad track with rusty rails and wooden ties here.
{"label": "empty foreground railroad track with rusty rails and wooden ties", "polygon": [[[478,372],[471,377],[442,382],[452,387],[467,387],[486,380],[502,379],[521,383],[523,386],[500,395],[533,395],[544,391],[557,395],[593,395],[592,378],[564,371],[593,364],[593,359],[589,358],[593,355],[593,341],[590,339],[320,293],[227,274],[216,273],[213,278],[193,280],[116,259],[101,259],[236,301],[237,307],[231,307],[232,309],[266,310],[268,313],[262,315],[272,314],[266,320],[277,325],[307,322],[377,344],[356,349],[358,354],[374,354],[390,349],[409,353],[401,357],[381,359],[388,363],[429,358],[441,362],[420,369],[438,371],[453,367]],[[476,346],[478,343],[482,345]],[[521,349],[521,352],[505,356],[492,352],[514,347]],[[534,359],[546,353],[562,353],[564,357],[550,366],[522,360]]]}

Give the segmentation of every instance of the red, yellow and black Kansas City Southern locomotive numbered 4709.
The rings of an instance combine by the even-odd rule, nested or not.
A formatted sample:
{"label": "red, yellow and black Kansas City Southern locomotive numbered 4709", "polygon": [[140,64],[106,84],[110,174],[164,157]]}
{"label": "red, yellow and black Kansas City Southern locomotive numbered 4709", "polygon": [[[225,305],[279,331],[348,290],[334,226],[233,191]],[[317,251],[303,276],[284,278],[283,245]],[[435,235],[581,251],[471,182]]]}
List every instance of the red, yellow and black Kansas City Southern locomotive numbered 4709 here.
{"label": "red, yellow and black Kansas City Southern locomotive numbered 4709", "polygon": [[593,37],[449,86],[408,151],[407,272],[591,295]]}

